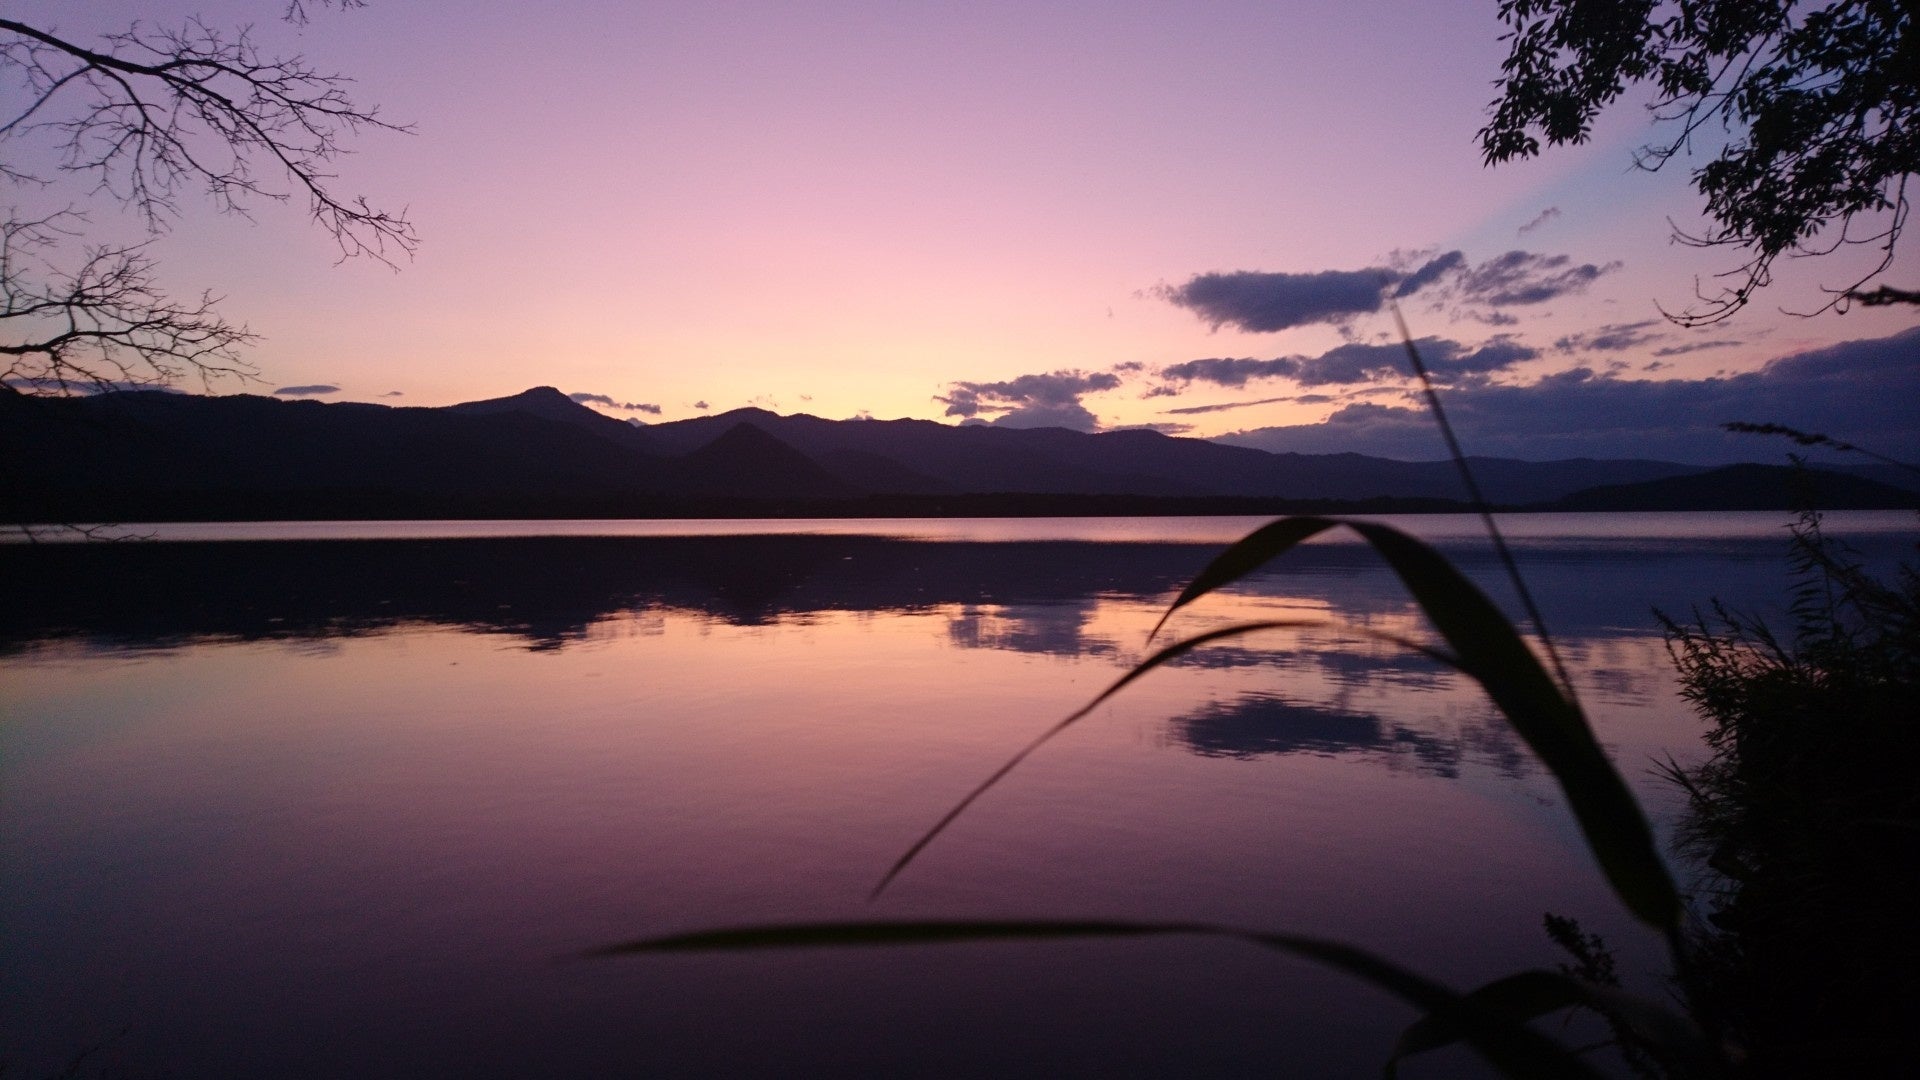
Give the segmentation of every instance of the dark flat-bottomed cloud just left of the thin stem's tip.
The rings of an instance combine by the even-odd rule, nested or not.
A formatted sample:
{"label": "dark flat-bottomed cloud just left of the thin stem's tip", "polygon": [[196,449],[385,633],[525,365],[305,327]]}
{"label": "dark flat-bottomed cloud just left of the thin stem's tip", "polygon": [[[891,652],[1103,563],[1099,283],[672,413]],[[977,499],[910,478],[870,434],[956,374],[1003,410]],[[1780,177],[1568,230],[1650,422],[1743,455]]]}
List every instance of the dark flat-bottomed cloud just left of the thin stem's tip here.
{"label": "dark flat-bottomed cloud just left of the thin stem's tip", "polygon": [[1200,315],[1215,331],[1271,332],[1311,323],[1338,323],[1380,309],[1388,267],[1319,273],[1202,273],[1160,298]]}

